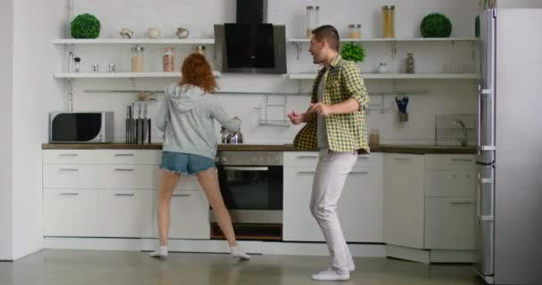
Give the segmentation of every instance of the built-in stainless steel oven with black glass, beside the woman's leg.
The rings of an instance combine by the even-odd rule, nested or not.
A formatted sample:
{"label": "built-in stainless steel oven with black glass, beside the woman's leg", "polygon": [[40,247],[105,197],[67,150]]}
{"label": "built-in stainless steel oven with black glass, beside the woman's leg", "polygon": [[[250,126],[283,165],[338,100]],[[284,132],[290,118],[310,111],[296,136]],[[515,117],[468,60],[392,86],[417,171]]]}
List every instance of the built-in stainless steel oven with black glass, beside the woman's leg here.
{"label": "built-in stainless steel oven with black glass, beside the woman's leg", "polygon": [[234,224],[283,223],[282,151],[219,151],[217,166]]}

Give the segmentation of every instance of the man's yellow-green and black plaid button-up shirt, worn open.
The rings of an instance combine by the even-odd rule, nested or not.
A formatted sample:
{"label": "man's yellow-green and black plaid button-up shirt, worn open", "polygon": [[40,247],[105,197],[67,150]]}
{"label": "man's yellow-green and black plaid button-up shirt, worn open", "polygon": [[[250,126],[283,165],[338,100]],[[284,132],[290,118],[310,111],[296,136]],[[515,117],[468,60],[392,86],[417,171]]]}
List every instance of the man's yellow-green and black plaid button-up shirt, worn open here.
{"label": "man's yellow-green and black plaid button-up shirt, worn open", "polygon": [[[338,152],[368,153],[370,150],[365,126],[365,108],[369,104],[369,96],[359,68],[352,61],[345,61],[341,56],[336,57],[329,70],[322,69],[316,76],[310,102],[318,101],[318,85],[324,77],[324,104],[333,105],[353,98],[360,107],[354,113],[325,116],[329,149]],[[310,115],[307,125],[293,141],[295,148],[317,149],[316,118],[316,113]]]}

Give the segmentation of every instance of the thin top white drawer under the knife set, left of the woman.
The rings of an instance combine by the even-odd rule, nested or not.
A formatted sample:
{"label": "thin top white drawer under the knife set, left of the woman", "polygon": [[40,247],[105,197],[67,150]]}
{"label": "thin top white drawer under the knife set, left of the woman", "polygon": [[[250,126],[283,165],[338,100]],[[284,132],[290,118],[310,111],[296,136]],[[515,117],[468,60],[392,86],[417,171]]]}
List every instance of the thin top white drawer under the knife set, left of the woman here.
{"label": "thin top white drawer under the knife set, left of the woman", "polygon": [[103,150],[101,164],[147,164],[159,165],[161,151]]}

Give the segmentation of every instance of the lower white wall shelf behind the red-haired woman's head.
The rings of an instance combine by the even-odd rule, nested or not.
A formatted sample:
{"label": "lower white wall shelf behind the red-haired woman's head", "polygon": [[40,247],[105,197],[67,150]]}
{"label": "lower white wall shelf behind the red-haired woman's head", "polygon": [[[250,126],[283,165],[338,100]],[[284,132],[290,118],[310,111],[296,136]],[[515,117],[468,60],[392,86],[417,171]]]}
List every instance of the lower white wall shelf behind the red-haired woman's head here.
{"label": "lower white wall shelf behind the red-haired woman's head", "polygon": [[[215,77],[221,77],[221,73],[213,71]],[[181,73],[174,72],[55,72],[55,78],[166,78],[180,77]]]}

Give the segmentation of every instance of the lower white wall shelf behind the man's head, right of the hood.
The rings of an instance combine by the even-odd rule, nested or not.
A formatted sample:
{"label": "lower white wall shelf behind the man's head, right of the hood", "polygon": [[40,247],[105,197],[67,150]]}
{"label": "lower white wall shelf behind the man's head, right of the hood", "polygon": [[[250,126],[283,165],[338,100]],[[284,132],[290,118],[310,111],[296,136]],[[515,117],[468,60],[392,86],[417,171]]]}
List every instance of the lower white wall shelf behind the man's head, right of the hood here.
{"label": "lower white wall shelf behind the man's head, right of the hood", "polygon": [[[478,79],[477,73],[362,73],[365,79]],[[316,73],[292,73],[289,79],[314,80]]]}

